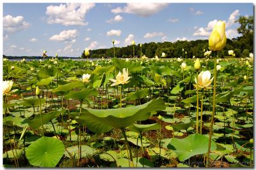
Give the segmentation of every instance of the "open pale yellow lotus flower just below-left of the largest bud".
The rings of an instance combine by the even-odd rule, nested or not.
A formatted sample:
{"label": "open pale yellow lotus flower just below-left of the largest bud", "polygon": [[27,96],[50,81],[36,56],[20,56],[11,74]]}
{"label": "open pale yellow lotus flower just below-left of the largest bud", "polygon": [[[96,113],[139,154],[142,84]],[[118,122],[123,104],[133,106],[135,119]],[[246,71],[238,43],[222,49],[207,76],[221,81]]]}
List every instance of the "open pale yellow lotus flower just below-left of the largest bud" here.
{"label": "open pale yellow lotus flower just below-left of the largest bud", "polygon": [[[194,84],[194,86],[200,89],[211,89],[211,87],[209,87],[212,83],[213,77],[211,78],[211,73],[210,71],[202,71],[199,75],[198,75],[198,82],[195,78],[195,82],[196,84]],[[198,85],[197,85],[198,84]]]}

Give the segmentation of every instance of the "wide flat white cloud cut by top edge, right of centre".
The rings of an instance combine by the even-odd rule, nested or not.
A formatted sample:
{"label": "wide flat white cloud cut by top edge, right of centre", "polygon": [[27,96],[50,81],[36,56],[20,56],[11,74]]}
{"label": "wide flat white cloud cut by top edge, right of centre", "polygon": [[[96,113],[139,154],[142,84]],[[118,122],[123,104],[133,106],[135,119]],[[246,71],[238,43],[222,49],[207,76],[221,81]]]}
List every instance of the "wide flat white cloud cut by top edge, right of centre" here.
{"label": "wide flat white cloud cut by top edge, right of centre", "polygon": [[112,13],[134,13],[142,17],[154,15],[168,6],[168,3],[127,3],[124,8],[117,7]]}

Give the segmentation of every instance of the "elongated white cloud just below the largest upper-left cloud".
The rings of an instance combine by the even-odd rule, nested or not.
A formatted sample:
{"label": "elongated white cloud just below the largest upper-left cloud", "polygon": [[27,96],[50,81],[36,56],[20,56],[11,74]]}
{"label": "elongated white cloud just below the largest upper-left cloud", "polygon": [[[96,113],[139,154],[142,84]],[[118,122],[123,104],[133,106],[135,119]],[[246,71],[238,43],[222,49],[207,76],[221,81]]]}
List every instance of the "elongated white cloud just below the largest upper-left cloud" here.
{"label": "elongated white cloud just below the largest upper-left cloud", "polygon": [[[50,41],[73,41],[78,35],[76,29],[61,31],[60,34],[56,34],[49,38]],[[73,40],[72,40],[73,39]]]}

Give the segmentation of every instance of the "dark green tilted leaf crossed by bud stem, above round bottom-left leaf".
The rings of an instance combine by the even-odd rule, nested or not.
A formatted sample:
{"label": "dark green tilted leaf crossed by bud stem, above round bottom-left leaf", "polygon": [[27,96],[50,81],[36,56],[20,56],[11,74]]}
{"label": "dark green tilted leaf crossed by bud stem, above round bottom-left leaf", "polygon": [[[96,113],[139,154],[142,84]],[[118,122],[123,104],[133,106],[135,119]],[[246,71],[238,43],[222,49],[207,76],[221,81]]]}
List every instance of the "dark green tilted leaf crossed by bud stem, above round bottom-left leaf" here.
{"label": "dark green tilted leaf crossed by bud stem, above round bottom-left leaf", "polygon": [[[43,125],[48,124],[53,118],[58,117],[60,113],[61,111],[51,111],[49,113],[42,113]],[[32,129],[38,129],[39,127],[41,127],[41,115],[36,115],[35,118],[28,121],[28,124]]]}

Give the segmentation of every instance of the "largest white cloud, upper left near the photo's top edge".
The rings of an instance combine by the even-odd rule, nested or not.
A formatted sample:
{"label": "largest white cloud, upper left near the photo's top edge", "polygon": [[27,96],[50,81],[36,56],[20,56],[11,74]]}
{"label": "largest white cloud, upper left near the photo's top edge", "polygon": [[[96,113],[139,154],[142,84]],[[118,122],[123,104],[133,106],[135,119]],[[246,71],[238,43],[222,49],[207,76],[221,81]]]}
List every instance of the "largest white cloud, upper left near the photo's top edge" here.
{"label": "largest white cloud, upper left near the photo's top edge", "polygon": [[45,14],[48,24],[87,25],[86,13],[95,6],[94,3],[67,3],[60,6],[47,6]]}

